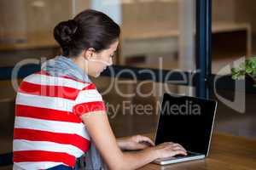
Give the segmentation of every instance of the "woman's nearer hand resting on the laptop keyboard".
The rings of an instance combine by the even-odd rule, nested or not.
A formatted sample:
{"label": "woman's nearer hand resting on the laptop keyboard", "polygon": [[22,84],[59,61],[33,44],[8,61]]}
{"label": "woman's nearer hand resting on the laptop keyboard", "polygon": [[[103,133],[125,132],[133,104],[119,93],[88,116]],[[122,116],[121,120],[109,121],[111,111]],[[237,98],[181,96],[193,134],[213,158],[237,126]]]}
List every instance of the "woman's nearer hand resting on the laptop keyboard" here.
{"label": "woman's nearer hand resting on the laptop keyboard", "polygon": [[182,145],[173,142],[158,144],[154,147],[154,150],[157,158],[166,158],[176,155],[187,155],[187,150],[185,150]]}

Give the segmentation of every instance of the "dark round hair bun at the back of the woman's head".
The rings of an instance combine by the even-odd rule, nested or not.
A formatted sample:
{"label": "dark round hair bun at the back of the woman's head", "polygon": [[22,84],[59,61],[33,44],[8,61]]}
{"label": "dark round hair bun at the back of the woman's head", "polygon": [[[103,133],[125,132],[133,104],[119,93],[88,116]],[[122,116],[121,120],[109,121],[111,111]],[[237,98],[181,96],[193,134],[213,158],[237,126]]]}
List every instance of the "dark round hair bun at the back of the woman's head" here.
{"label": "dark round hair bun at the back of the woman's head", "polygon": [[67,20],[55,26],[54,37],[61,45],[67,45],[73,41],[73,36],[78,30],[78,24],[75,20]]}

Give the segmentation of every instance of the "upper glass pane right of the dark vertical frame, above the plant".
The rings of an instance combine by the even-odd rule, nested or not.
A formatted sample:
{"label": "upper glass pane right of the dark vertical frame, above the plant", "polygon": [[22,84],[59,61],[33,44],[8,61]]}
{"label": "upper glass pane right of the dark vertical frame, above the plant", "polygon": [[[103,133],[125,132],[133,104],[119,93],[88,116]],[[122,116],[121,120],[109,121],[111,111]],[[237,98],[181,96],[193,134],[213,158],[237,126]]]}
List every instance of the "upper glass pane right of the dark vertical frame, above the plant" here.
{"label": "upper glass pane right of the dark vertical frame, above the plant", "polygon": [[253,1],[212,1],[212,72],[253,53]]}

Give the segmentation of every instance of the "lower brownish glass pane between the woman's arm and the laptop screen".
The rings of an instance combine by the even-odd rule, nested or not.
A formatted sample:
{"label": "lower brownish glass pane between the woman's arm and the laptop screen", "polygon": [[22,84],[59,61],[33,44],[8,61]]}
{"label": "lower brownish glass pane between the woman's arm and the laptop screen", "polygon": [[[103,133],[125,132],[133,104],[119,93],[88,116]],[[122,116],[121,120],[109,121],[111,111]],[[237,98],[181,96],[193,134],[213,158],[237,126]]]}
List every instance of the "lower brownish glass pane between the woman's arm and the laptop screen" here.
{"label": "lower brownish glass pane between the woman's arm and the laptop screen", "polygon": [[152,133],[158,122],[161,97],[179,94],[178,87],[166,83],[99,77],[93,79],[108,110],[108,120],[116,136]]}

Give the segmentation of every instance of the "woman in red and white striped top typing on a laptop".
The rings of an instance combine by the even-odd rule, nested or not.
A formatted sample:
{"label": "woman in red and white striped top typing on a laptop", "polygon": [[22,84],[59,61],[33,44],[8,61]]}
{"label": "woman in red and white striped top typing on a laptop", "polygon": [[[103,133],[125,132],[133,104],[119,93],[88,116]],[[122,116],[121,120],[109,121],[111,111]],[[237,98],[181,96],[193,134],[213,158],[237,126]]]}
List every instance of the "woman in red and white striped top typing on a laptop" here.
{"label": "woman in red and white striped top typing on a laptop", "polygon": [[180,144],[154,146],[141,135],[115,139],[102,96],[88,76],[98,77],[113,64],[119,32],[106,14],[91,9],[55,26],[63,54],[26,77],[16,97],[14,169],[73,169],[90,141],[109,169],[136,169],[157,158],[186,155]]}

